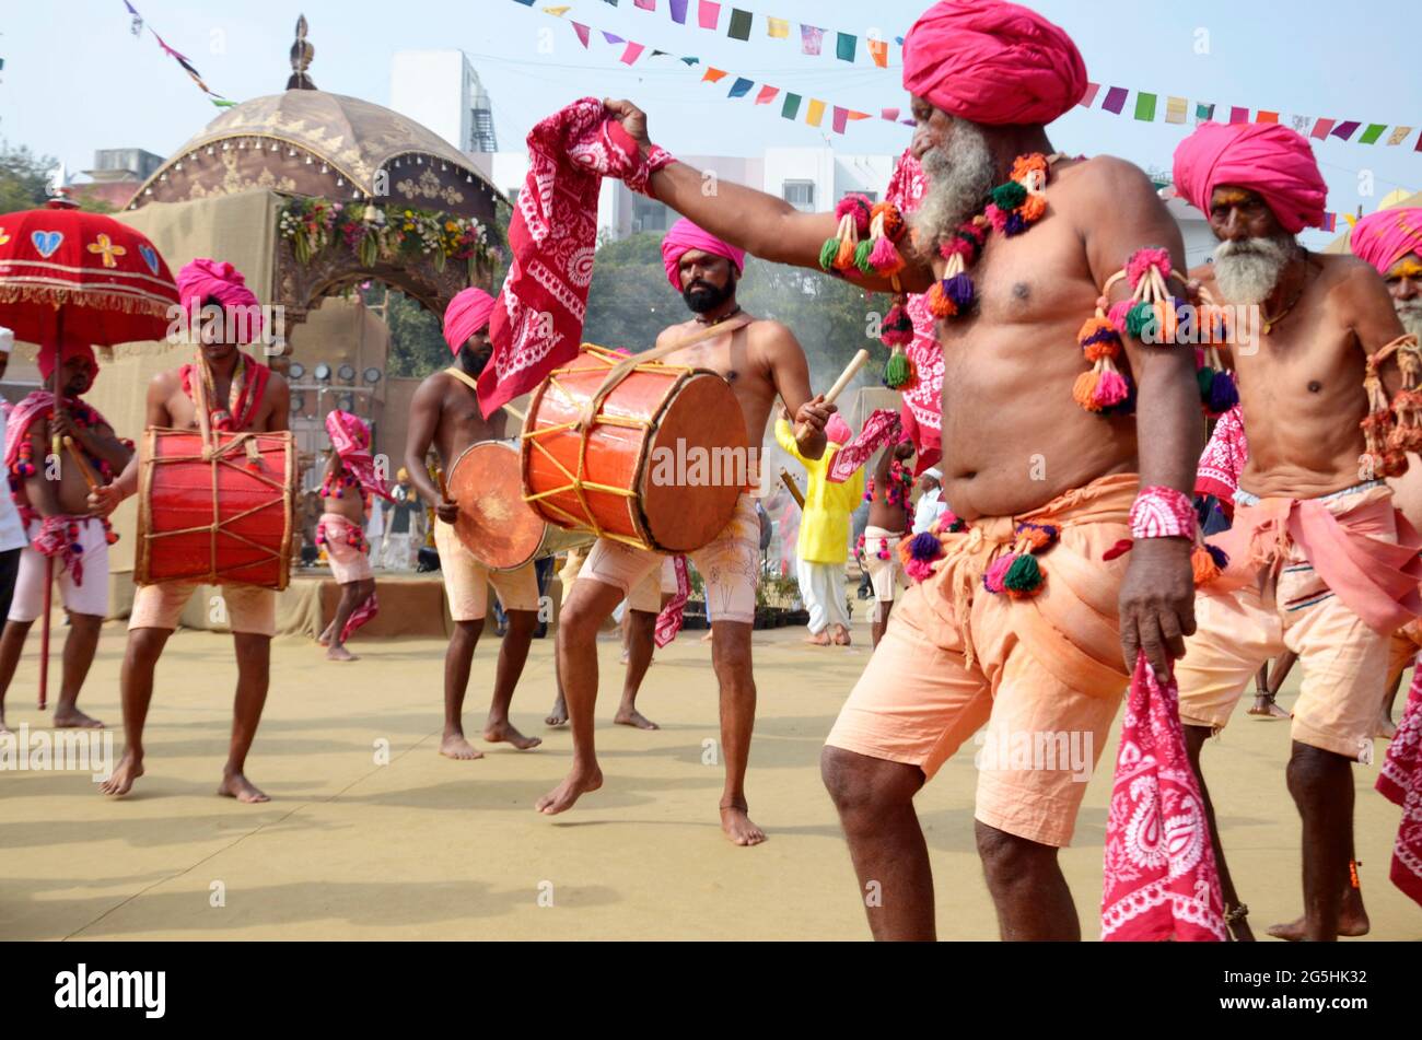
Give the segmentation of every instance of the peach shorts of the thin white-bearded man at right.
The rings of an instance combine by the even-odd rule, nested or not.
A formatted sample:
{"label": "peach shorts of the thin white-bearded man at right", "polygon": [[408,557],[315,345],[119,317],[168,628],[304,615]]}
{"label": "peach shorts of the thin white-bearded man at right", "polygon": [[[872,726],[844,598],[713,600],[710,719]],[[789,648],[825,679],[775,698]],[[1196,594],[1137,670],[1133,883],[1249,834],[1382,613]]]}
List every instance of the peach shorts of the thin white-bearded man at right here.
{"label": "peach shorts of the thin white-bearded man at right", "polygon": [[1194,635],[1175,666],[1180,722],[1224,729],[1260,665],[1290,649],[1304,676],[1293,739],[1371,762],[1392,637],[1368,628],[1334,595],[1298,546],[1276,570],[1271,598],[1257,585],[1196,595]]}

